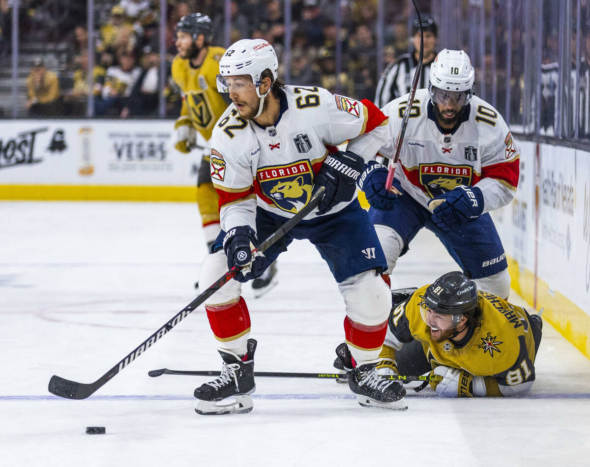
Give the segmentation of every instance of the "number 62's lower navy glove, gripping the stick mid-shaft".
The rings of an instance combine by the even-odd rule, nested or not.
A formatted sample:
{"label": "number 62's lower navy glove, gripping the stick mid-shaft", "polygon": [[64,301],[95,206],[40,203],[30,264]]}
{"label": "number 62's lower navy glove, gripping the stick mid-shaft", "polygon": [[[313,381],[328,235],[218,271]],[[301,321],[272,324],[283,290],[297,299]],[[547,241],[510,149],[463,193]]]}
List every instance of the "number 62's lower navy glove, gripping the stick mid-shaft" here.
{"label": "number 62's lower navy glove, gripping the stick mid-shaft", "polygon": [[263,273],[262,254],[252,257],[252,250],[257,245],[258,236],[249,225],[238,225],[225,234],[223,249],[228,269],[234,266],[244,268],[234,277],[238,282],[247,282]]}

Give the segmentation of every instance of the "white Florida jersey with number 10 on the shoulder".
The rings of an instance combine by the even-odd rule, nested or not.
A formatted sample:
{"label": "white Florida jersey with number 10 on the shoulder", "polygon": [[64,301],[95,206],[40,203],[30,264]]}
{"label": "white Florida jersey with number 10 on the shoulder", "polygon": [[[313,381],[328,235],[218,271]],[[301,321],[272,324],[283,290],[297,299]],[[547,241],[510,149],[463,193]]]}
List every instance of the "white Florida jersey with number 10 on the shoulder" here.
{"label": "white Florida jersey with number 10 on the shoulder", "polygon": [[[382,108],[389,117],[389,141],[379,153],[391,159],[408,95]],[[416,91],[395,177],[422,206],[458,185],[477,185],[484,212],[509,203],[519,179],[519,152],[498,111],[473,96],[454,133],[437,126],[427,89]]]}

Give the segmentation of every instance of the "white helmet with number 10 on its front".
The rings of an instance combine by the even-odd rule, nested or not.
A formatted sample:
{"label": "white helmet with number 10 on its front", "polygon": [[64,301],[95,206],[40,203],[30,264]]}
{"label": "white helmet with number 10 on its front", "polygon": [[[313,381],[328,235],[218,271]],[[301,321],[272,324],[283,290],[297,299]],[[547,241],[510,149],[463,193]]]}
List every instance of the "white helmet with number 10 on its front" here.
{"label": "white helmet with number 10 on its front", "polygon": [[441,50],[430,65],[430,98],[441,103],[442,98],[455,97],[466,106],[473,96],[475,75],[471,60],[463,50]]}

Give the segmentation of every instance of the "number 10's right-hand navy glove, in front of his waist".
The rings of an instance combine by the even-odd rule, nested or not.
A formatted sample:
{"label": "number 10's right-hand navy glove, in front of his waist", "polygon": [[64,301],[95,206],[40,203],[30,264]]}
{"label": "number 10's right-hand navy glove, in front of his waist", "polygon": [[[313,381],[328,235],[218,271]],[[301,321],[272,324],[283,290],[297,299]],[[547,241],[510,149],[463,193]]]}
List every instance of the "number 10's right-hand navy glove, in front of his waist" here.
{"label": "number 10's right-hand navy glove, in front of his waist", "polygon": [[442,231],[463,225],[483,212],[483,193],[477,186],[459,185],[430,202],[435,199],[444,200],[432,211],[432,221]]}

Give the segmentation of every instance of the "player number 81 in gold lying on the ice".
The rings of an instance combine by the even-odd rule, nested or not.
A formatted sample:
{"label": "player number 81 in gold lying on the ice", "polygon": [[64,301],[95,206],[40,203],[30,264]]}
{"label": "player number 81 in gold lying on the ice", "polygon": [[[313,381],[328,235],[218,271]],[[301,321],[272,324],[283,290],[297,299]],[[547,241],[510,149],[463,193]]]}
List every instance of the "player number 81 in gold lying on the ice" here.
{"label": "player number 81 in gold lying on the ice", "polygon": [[[380,374],[430,371],[442,376],[430,383],[442,397],[529,392],[542,336],[539,315],[478,291],[461,272],[417,290],[392,291],[392,300]],[[336,353],[344,354],[342,349],[340,344]],[[340,357],[334,365],[345,369]]]}

